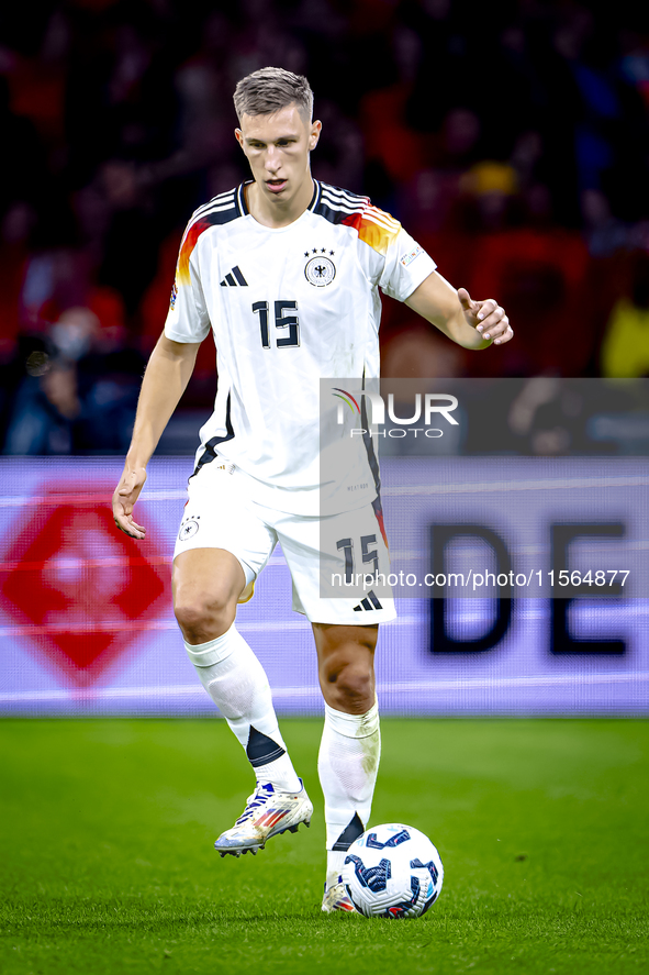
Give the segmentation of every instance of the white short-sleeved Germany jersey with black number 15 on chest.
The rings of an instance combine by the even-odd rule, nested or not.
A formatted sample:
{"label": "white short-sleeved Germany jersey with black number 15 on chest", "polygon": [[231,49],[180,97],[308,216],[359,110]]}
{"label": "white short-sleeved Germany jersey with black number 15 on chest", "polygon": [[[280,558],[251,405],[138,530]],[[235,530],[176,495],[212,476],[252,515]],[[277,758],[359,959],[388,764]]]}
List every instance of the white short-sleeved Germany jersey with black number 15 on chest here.
{"label": "white short-sleeved Germany jersey with black number 15 on chest", "polygon": [[222,457],[258,481],[259,503],[333,514],[376,498],[378,467],[367,437],[356,437],[345,470],[323,474],[320,380],[378,378],[379,288],[404,301],[435,263],[366,197],[314,185],[289,226],[258,223],[243,184],[200,207],[180,246],[165,334],[214,334],[219,391],[197,466]]}

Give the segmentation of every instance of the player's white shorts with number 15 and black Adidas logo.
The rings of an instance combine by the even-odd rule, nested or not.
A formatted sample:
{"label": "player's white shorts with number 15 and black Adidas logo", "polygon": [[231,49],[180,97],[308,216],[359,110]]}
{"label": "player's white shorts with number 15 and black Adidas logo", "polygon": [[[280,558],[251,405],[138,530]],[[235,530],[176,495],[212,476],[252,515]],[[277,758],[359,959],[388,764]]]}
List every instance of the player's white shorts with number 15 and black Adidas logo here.
{"label": "player's white shorts with number 15 and black Adidas logo", "polygon": [[[390,555],[372,505],[324,518],[291,514],[258,505],[255,484],[220,457],[192,475],[174,558],[191,549],[232,552],[246,576],[239,598],[246,602],[279,542],[293,583],[293,609],[310,622],[368,627],[396,617],[385,584]],[[332,591],[340,595],[323,595]]]}

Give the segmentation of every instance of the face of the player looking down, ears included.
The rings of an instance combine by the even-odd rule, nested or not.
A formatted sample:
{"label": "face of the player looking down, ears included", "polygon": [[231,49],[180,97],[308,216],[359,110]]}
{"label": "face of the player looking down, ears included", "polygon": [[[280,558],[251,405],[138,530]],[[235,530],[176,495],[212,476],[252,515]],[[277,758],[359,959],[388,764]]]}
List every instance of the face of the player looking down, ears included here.
{"label": "face of the player looking down, ears included", "polygon": [[235,134],[268,200],[289,202],[311,179],[309,153],[321,128],[320,122],[307,122],[295,106],[271,115],[243,115]]}

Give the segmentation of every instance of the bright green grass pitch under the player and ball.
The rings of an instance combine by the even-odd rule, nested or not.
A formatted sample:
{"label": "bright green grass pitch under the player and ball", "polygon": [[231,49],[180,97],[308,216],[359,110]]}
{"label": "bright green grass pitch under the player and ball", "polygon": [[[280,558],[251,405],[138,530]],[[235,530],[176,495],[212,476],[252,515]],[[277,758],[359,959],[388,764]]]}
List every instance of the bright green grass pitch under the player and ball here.
{"label": "bright green grass pitch under the player and ball", "polygon": [[445,864],[415,921],[320,911],[320,722],[283,722],[311,830],[212,844],[251,791],[221,721],[0,722],[3,975],[645,973],[649,725],[385,720],[372,821]]}

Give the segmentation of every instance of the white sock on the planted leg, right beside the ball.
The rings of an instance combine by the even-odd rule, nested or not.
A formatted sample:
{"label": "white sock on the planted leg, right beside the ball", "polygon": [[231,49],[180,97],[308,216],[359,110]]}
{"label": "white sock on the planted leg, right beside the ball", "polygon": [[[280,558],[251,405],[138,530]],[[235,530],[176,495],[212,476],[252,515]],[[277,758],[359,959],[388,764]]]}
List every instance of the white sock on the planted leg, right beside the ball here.
{"label": "white sock on the planted leg, right beside the ball", "polygon": [[377,703],[366,714],[345,714],[325,703],[317,771],[325,799],[327,887],[336,883],[347,849],[368,824],[380,757]]}

